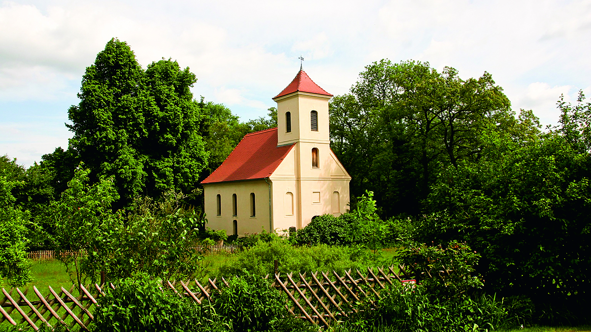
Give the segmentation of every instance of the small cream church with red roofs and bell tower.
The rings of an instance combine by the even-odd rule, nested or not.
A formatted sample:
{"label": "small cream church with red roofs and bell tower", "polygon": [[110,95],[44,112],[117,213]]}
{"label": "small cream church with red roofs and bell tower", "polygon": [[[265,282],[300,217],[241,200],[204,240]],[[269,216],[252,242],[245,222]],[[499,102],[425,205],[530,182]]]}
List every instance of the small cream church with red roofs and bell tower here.
{"label": "small cream church with red roofs and bell tower", "polygon": [[273,98],[277,128],[245,135],[202,181],[207,227],[243,236],[345,213],[351,177],[330,149],[330,97],[300,69]]}

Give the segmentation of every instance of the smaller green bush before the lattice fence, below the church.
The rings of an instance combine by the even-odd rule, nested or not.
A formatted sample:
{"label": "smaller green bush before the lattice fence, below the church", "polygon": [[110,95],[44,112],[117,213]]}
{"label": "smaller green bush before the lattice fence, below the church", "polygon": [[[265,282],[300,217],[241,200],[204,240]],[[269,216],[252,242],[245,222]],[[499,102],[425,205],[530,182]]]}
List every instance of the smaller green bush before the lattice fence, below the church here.
{"label": "smaller green bush before the lattice fence, below the church", "polygon": [[234,331],[313,331],[285,308],[285,295],[271,282],[248,272],[228,280],[213,298],[216,313],[231,322]]}

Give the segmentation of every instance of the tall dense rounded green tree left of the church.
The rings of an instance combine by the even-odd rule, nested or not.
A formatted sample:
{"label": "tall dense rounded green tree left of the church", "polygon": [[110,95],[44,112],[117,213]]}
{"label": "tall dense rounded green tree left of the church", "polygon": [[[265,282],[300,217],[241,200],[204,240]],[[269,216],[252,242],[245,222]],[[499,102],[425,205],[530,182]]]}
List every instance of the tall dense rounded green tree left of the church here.
{"label": "tall dense rounded green tree left of the church", "polygon": [[116,39],[87,67],[80,103],[68,111],[70,148],[90,168],[92,181],[115,177],[116,205],[197,184],[207,152],[189,90],[194,82],[176,61],[161,60],[144,71],[129,45]]}

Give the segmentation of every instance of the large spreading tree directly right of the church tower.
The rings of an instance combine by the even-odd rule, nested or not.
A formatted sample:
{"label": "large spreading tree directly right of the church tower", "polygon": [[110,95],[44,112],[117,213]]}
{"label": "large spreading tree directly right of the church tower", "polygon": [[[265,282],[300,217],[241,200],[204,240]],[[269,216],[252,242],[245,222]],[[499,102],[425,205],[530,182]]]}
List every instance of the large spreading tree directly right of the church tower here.
{"label": "large spreading tree directly right of the church tower", "polygon": [[353,174],[352,196],[374,190],[386,214],[418,213],[440,163],[476,158],[485,128],[515,122],[486,72],[463,80],[449,67],[381,60],[359,76],[330,105],[332,147]]}

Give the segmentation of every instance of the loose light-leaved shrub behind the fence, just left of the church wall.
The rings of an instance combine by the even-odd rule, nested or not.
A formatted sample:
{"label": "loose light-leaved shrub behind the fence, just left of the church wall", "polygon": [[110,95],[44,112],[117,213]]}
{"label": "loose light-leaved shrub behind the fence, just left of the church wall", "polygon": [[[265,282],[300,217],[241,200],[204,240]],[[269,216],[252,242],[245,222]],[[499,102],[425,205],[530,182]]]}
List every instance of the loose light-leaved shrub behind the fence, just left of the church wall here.
{"label": "loose light-leaved shrub behind the fence, just left of the church wall", "polygon": [[203,252],[195,249],[204,227],[202,214],[179,204],[170,193],[157,203],[137,200],[125,222],[103,229],[98,240],[106,277],[127,278],[143,272],[163,280],[191,279],[205,273]]}

